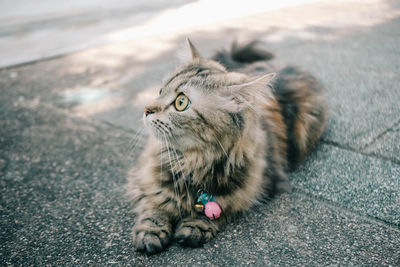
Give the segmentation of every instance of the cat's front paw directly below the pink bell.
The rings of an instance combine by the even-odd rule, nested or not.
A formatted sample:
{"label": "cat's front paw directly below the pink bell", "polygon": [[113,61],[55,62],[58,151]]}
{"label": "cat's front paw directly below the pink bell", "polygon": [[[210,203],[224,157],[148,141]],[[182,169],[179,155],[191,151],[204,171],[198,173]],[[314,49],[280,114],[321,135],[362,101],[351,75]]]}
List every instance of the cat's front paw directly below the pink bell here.
{"label": "cat's front paw directly below the pink bell", "polygon": [[198,247],[217,234],[217,226],[208,219],[185,219],[175,231],[175,240],[184,246]]}

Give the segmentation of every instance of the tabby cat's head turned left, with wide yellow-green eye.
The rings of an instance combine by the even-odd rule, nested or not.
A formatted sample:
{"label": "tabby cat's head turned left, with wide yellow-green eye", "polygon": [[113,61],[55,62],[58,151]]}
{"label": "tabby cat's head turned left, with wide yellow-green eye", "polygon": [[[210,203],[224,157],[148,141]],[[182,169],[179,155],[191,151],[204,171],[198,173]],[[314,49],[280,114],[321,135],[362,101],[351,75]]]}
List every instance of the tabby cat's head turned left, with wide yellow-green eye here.
{"label": "tabby cat's head turned left, with wide yellow-green eye", "polygon": [[274,74],[248,78],[202,58],[188,40],[192,60],[170,75],[159,96],[144,110],[145,124],[162,142],[178,150],[202,147],[240,136],[254,99]]}

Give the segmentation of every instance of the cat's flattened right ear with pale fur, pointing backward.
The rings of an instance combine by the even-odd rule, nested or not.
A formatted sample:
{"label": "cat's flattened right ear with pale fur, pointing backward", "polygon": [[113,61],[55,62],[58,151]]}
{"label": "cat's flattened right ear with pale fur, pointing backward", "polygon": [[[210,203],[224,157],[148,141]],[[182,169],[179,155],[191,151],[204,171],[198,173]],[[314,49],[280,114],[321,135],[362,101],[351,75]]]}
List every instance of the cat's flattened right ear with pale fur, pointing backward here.
{"label": "cat's flattened right ear with pale fur, pointing backward", "polygon": [[229,107],[228,109],[231,112],[239,112],[243,108],[251,107],[252,99],[268,102],[269,98],[274,96],[266,87],[275,76],[276,73],[269,73],[241,84],[228,86],[227,91],[224,93],[224,97],[228,98],[229,103],[226,107]]}

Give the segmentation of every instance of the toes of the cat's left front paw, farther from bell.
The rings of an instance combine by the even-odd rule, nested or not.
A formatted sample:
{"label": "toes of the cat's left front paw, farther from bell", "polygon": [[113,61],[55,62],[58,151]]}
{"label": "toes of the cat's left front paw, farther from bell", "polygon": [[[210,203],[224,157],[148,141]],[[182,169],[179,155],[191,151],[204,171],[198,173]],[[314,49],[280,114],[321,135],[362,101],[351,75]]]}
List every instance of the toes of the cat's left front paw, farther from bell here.
{"label": "toes of the cat's left front paw, farther from bell", "polygon": [[137,251],[149,254],[157,253],[166,248],[170,241],[170,233],[161,228],[143,229],[135,227],[133,229],[133,245]]}

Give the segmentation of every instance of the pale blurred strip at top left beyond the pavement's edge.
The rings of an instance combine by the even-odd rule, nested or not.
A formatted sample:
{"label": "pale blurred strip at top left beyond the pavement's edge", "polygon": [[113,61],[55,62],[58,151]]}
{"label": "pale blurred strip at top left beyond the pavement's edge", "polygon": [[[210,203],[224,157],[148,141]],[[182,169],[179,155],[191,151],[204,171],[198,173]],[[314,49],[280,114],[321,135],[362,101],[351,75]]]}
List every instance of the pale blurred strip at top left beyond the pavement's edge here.
{"label": "pale blurred strip at top left beyond the pavement's edge", "polygon": [[0,67],[315,1],[2,0]]}

